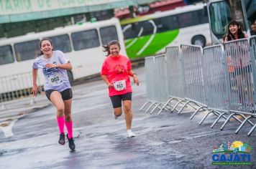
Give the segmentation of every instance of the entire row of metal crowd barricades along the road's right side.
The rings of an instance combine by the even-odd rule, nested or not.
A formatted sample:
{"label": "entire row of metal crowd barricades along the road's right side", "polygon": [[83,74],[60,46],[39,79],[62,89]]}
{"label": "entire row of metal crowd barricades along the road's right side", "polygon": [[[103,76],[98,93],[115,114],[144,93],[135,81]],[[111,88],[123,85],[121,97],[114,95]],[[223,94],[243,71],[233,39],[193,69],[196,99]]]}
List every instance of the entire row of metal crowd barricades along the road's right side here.
{"label": "entire row of metal crowd barricades along the road's right side", "polygon": [[[196,110],[191,118],[200,109],[208,111],[199,125],[213,112],[217,119],[211,127],[224,117],[222,130],[233,117],[241,123],[235,133],[245,122],[252,125],[247,135],[255,130],[256,124],[249,119],[256,117],[256,36],[227,42],[224,46],[205,47],[204,53],[201,47],[181,44],[180,51],[179,47],[167,47],[165,54],[145,58],[147,99],[152,100],[153,110],[158,106],[160,111],[165,107],[165,110],[170,107],[176,110],[180,102],[183,107],[193,102],[198,107],[191,105]],[[173,106],[169,96],[178,97],[180,101]]]}

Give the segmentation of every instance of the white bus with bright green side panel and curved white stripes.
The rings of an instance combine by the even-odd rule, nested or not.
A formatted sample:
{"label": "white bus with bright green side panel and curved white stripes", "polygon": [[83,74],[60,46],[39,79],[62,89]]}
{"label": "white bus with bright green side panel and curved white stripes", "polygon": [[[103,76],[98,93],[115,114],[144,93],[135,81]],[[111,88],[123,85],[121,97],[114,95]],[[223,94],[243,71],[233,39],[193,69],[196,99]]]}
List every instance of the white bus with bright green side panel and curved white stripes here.
{"label": "white bus with bright green side panel and curved white stripes", "polygon": [[170,11],[120,21],[129,58],[165,52],[180,44],[211,44],[211,32],[204,4],[182,6]]}

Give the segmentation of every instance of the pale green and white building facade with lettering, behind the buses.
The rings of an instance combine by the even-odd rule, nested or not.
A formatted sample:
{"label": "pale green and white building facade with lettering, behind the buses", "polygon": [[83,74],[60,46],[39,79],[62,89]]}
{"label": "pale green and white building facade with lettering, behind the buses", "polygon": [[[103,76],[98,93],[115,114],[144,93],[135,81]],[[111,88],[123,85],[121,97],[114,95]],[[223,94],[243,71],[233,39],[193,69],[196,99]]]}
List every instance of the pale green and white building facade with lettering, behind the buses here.
{"label": "pale green and white building facade with lettering, behind the buses", "polygon": [[42,32],[55,27],[100,21],[114,9],[155,0],[0,0],[0,38]]}

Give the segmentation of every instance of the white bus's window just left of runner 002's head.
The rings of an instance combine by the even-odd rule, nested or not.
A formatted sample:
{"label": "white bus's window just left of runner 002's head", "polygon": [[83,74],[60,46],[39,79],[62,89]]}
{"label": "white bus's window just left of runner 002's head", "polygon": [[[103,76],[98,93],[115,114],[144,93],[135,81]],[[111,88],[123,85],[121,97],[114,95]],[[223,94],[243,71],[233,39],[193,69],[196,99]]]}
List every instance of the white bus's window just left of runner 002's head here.
{"label": "white bus's window just left of runner 002's head", "polygon": [[17,62],[35,59],[40,52],[39,39],[14,44]]}

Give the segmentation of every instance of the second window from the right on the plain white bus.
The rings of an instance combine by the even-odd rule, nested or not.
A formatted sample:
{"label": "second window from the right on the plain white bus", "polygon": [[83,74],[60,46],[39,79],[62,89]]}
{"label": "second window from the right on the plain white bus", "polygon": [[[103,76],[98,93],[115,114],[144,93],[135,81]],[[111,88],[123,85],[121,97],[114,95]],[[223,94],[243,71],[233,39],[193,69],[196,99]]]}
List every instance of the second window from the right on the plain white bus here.
{"label": "second window from the right on the plain white bus", "polygon": [[96,29],[71,34],[74,50],[99,47],[99,36]]}

